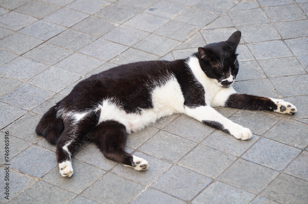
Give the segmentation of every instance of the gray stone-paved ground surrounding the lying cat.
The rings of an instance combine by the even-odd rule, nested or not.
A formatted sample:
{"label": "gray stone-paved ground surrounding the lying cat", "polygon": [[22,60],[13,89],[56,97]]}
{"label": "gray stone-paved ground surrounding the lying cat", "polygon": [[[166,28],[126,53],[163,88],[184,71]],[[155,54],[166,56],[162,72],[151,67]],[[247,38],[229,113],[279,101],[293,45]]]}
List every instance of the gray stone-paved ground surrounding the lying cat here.
{"label": "gray stone-paved ground surrounding the lying cat", "polygon": [[[307,0],[0,0],[3,203],[308,203]],[[62,178],[34,133],[84,77],[132,61],[173,60],[241,30],[234,88],[295,104],[294,116],[217,108],[250,128],[240,141],[184,115],[129,136],[136,172],[93,144]],[[10,165],[8,165],[10,164]],[[8,176],[9,181],[5,181]],[[4,188],[9,183],[9,200]]]}

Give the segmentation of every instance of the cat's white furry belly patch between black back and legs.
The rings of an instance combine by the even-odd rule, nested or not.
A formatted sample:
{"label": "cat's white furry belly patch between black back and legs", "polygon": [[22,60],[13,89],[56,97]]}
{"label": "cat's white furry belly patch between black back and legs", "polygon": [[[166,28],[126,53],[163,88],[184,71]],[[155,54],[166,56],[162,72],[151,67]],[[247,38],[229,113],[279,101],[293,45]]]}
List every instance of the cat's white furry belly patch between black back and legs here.
{"label": "cat's white furry belly patch between black back and legs", "polygon": [[152,91],[152,104],[153,108],[141,109],[140,113],[126,113],[112,99],[106,99],[96,110],[101,111],[99,123],[114,120],[123,124],[128,132],[142,129],[163,116],[184,113],[184,96],[176,78],[169,79]]}

